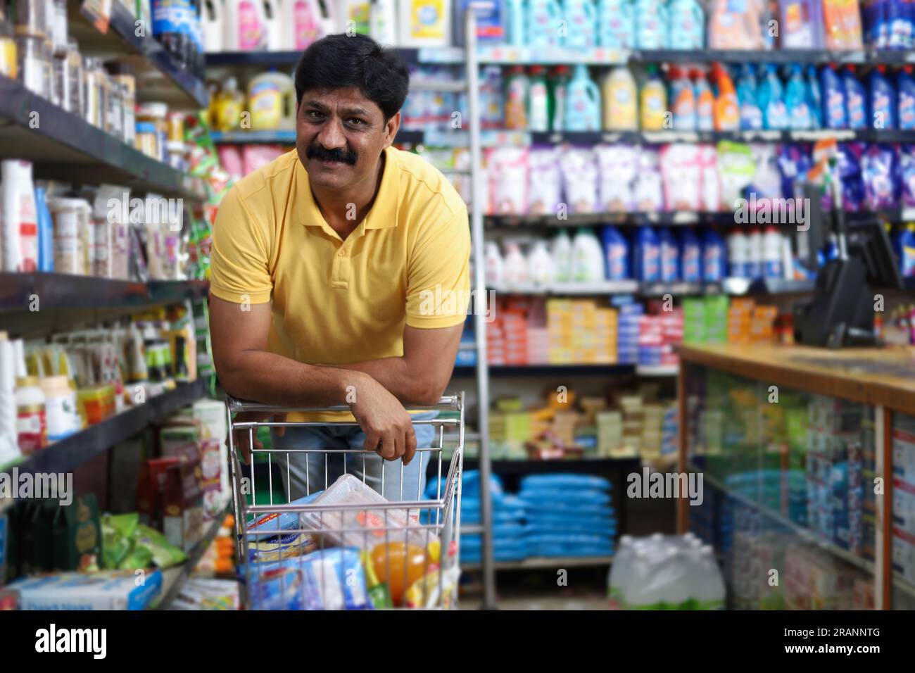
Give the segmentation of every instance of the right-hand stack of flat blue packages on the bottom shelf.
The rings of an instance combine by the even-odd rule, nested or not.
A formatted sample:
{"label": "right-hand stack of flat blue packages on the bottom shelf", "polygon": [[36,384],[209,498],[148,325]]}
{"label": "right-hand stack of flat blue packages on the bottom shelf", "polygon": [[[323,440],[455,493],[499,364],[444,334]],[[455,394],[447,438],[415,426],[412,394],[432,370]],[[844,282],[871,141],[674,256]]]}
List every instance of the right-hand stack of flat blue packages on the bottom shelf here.
{"label": "right-hand stack of flat blue packages on the bottom shelf", "polygon": [[532,474],[518,497],[530,556],[612,556],[617,520],[610,483],[589,474]]}

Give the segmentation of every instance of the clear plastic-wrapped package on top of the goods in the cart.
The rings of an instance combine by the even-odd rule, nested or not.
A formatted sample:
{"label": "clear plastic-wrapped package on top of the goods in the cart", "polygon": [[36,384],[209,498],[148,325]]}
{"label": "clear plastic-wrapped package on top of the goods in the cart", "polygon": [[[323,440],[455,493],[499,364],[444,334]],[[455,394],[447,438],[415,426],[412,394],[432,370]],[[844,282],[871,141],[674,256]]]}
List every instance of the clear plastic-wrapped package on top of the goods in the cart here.
{"label": "clear plastic-wrapped package on top of the goods in the cart", "polygon": [[[352,474],[344,474],[332,483],[314,504],[326,507],[386,505],[388,500]],[[384,539],[403,540],[420,548],[425,548],[433,542],[440,542],[435,532],[419,527],[421,524],[417,517],[407,516],[405,507],[303,512],[301,521],[304,527],[315,530],[316,537],[320,535],[325,544],[341,547],[373,547]],[[416,527],[410,530],[411,526]]]}

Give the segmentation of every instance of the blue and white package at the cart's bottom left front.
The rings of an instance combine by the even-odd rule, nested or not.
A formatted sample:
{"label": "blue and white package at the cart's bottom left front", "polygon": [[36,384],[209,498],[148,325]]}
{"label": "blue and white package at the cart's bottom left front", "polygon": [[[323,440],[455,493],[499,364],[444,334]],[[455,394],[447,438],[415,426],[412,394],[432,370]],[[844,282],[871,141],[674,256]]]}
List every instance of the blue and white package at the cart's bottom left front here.
{"label": "blue and white package at the cart's bottom left front", "polygon": [[329,548],[298,559],[253,563],[254,610],[363,610],[370,607],[360,551]]}

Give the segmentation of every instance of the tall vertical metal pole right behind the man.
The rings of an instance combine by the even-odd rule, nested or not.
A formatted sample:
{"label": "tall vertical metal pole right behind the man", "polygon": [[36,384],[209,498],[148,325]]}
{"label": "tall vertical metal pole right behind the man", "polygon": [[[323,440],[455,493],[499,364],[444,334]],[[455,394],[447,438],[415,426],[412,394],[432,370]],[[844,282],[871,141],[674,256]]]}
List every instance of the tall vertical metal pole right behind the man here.
{"label": "tall vertical metal pole right behind the man", "polygon": [[486,353],[487,307],[486,263],[483,258],[483,185],[480,170],[483,151],[479,125],[479,66],[477,64],[477,17],[471,4],[465,15],[464,44],[467,49],[467,98],[470,124],[470,159],[472,170],[470,243],[473,254],[474,333],[477,338],[477,425],[479,429],[479,513],[483,526],[483,609],[496,607],[496,570],[492,564],[492,500],[490,498],[490,369]]}

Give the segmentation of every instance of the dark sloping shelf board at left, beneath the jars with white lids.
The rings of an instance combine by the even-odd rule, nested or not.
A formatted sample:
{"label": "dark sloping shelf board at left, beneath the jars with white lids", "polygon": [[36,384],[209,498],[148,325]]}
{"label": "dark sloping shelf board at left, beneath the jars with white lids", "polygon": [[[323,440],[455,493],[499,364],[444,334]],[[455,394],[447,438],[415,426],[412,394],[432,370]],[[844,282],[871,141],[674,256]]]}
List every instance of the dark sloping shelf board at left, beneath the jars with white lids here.
{"label": "dark sloping shelf board at left, beneath the jars with white lids", "polygon": [[178,384],[174,390],[151,397],[144,404],[130,407],[112,418],[106,418],[101,423],[28,455],[16,467],[20,473],[73,472],[82,463],[133,436],[150,423],[205,396],[206,392],[205,379]]}

